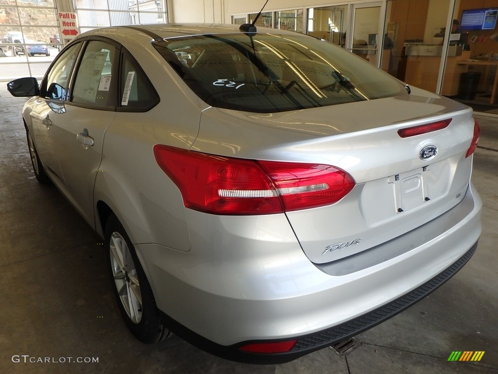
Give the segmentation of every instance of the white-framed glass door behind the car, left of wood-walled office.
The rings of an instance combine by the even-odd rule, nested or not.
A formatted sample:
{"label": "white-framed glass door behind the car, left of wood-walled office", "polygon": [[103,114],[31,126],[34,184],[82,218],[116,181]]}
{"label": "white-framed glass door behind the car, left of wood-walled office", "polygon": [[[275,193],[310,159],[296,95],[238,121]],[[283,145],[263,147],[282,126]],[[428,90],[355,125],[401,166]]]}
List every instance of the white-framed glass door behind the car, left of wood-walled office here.
{"label": "white-framed glass door behind the car, left of wood-walled office", "polygon": [[[348,50],[380,67],[384,37],[385,2],[352,5]],[[386,47],[386,46],[384,46]],[[388,49],[386,49],[388,50]]]}

